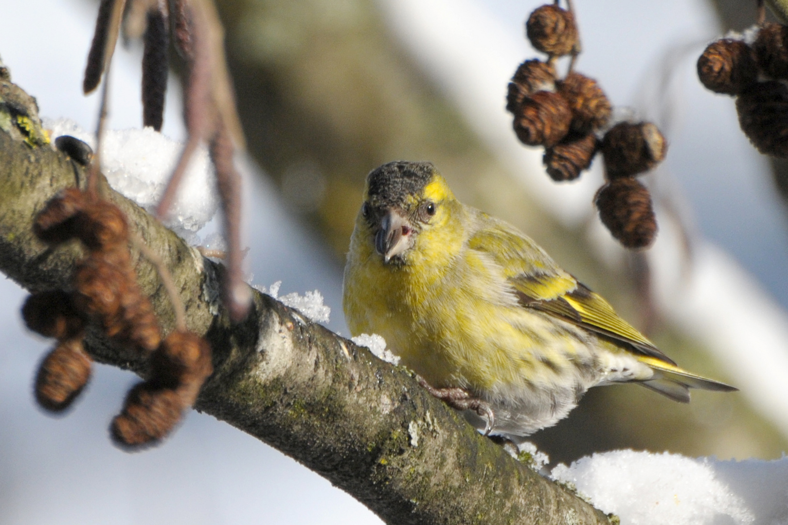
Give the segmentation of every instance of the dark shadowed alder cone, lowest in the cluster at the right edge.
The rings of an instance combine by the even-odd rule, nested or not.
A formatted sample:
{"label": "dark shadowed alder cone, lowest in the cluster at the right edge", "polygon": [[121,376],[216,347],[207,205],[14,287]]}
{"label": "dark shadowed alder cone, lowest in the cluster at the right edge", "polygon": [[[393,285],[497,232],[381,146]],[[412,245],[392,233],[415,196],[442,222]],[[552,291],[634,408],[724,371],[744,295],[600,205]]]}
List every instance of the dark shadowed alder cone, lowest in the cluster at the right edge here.
{"label": "dark shadowed alder cone, lowest in the cluster at the right edge", "polygon": [[760,153],[788,157],[788,87],[770,80],[756,83],[736,99],[742,131]]}

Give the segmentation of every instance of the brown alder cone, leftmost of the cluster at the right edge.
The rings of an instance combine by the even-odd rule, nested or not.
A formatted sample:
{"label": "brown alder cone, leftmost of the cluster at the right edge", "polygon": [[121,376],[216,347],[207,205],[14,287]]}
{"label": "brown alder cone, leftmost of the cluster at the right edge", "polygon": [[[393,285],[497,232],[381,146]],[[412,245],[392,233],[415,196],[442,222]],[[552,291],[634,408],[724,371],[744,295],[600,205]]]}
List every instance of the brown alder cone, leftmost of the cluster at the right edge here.
{"label": "brown alder cone, leftmost of the cluster at the right edge", "polygon": [[712,42],[697,59],[697,76],[708,90],[739,94],[758,80],[753,48],[741,40]]}

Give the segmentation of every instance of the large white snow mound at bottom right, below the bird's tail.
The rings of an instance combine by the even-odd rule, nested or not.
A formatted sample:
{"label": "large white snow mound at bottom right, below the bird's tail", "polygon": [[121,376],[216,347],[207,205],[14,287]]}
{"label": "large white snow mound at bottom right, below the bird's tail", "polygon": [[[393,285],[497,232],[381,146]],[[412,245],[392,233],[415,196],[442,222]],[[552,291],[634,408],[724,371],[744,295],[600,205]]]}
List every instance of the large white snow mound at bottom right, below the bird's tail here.
{"label": "large white snow mound at bottom right, below the bird's tail", "polygon": [[574,484],[622,525],[788,523],[788,457],[719,461],[616,450],[559,464],[552,478]]}

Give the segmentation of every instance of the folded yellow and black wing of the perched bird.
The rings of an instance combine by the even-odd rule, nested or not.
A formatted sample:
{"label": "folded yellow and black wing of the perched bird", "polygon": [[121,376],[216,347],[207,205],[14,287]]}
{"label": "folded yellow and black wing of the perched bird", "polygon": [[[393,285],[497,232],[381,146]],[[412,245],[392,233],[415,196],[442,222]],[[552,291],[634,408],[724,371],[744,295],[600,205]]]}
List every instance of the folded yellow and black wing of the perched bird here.
{"label": "folded yellow and black wing of the perched bird", "polygon": [[492,257],[523,308],[536,309],[626,343],[638,353],[668,364],[673,360],[625,320],[600,295],[563,269],[530,238],[508,224],[480,214],[468,239],[470,250]]}

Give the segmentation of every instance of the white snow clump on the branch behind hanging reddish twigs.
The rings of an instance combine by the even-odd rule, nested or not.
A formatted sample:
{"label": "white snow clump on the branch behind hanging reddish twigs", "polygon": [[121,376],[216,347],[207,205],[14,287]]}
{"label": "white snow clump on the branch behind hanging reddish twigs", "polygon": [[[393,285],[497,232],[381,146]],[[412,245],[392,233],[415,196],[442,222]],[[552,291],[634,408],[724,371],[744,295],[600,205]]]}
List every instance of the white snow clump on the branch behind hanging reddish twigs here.
{"label": "white snow clump on the branch behind hanging reddish twigs", "polygon": [[[95,149],[95,138],[69,119],[44,119],[51,138],[72,135]],[[102,172],[113,189],[153,211],[164,193],[183,145],[153,128],[107,130],[102,143]],[[180,183],[165,225],[179,235],[191,236],[203,227],[218,207],[214,168],[200,146]]]}

